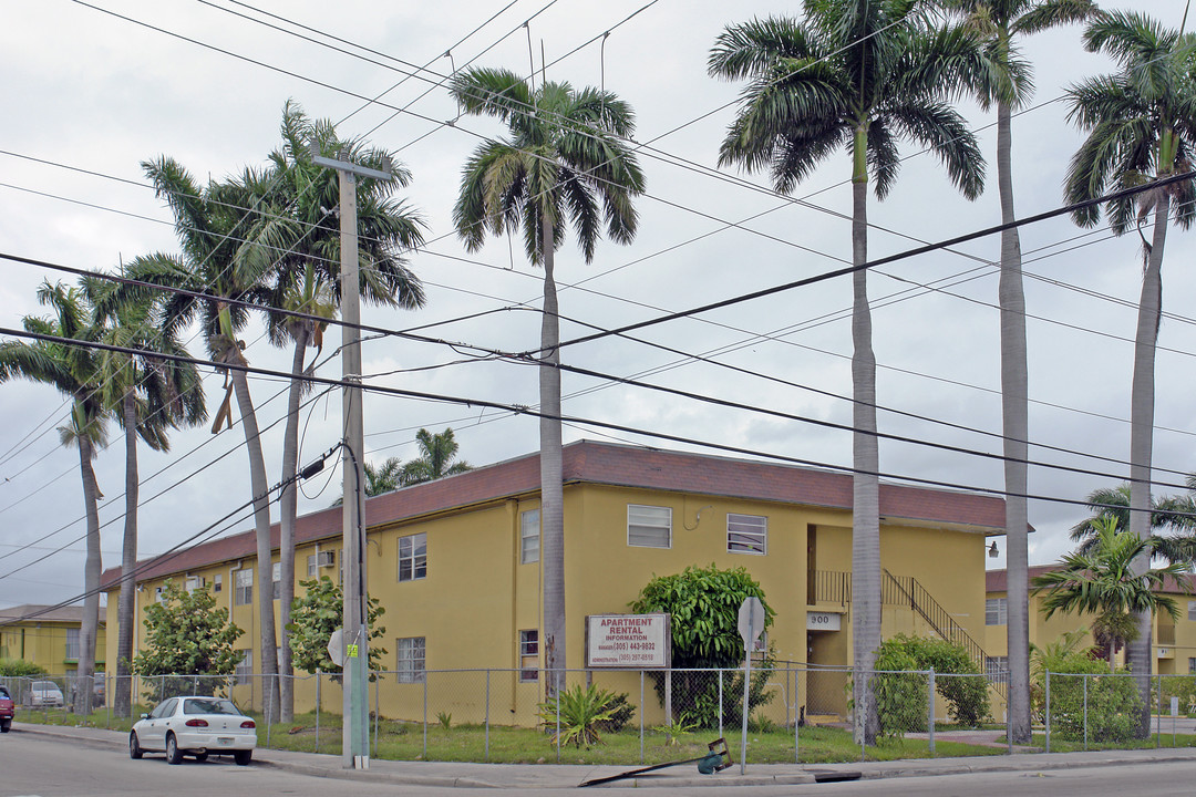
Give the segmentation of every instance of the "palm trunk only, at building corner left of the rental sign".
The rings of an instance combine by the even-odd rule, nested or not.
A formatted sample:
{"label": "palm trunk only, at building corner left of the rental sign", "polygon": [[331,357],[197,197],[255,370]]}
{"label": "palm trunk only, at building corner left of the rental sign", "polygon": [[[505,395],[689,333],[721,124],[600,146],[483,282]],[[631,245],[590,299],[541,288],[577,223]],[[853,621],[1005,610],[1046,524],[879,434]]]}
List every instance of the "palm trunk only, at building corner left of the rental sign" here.
{"label": "palm trunk only, at building corner left of the rental sign", "polygon": [[541,568],[544,575],[544,666],[549,670],[545,693],[556,693],[555,670],[567,667],[565,650],[565,486],[561,449],[561,342],[553,252],[553,220],[541,215],[541,253],[544,265],[544,309],[539,345],[539,517],[543,535]]}

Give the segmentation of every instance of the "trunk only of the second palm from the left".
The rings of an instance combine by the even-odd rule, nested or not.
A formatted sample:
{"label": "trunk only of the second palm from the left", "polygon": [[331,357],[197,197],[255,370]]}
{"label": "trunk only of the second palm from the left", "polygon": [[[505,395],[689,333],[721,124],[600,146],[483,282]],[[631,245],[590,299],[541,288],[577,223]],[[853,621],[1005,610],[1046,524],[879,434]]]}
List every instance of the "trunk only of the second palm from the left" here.
{"label": "trunk only of the second palm from the left", "polygon": [[112,709],[117,717],[133,713],[133,683],[129,664],[133,661],[133,629],[136,623],[134,605],[138,581],[138,401],[129,388],[121,399],[124,413],[124,545],[121,548],[121,591],[116,603],[116,685]]}

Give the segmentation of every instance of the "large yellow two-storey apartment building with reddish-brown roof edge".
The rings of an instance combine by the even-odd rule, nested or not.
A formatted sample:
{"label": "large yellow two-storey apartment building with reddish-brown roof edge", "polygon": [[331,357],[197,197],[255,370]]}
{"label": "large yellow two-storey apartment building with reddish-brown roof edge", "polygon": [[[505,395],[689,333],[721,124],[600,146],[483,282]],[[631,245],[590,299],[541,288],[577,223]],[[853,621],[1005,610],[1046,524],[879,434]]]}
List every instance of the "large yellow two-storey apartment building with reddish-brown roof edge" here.
{"label": "large yellow two-storey apartment building with reddish-brown roof edge", "polygon": [[[542,695],[535,669],[543,666],[538,488],[532,454],[366,501],[367,583],[386,609],[382,646],[386,669],[397,673],[380,697],[384,716],[419,716],[426,672],[495,668],[508,670],[489,685],[500,695],[493,704],[505,701],[504,721],[533,717]],[[653,576],[710,563],[746,566],[759,581],[776,611],[768,643],[779,660],[850,664],[850,507],[852,478],[842,473],[588,441],[566,446],[568,667],[584,667],[586,615],[626,613]],[[883,484],[880,515],[884,634],[981,639],[986,537],[1003,534],[1003,502]],[[277,526],[274,534],[276,551]],[[295,539],[297,580],[337,577],[340,508],[299,519]],[[263,586],[255,577],[252,532],[151,559],[139,564],[138,615],[166,578],[213,590],[245,631],[248,674],[260,661],[252,646]],[[111,644],[118,580],[118,568],[103,576]],[[483,674],[471,678],[471,689],[487,688]],[[844,715],[844,680],[803,675],[801,705],[811,715]],[[624,681],[614,686],[639,694],[637,675]],[[398,697],[404,688],[410,703]],[[297,687],[297,710],[310,707],[310,691]],[[454,719],[476,718],[452,705]]]}

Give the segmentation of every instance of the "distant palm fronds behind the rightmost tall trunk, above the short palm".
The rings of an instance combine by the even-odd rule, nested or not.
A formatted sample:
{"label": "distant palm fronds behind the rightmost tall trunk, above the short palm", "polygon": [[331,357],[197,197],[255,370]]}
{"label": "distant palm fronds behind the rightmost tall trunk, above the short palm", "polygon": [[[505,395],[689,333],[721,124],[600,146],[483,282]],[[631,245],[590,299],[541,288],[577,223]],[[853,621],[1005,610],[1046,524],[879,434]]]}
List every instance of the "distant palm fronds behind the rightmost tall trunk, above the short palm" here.
{"label": "distant palm fronds behind the rightmost tall trunk, above the short palm", "polygon": [[[1151,499],[1151,539],[1154,554],[1167,562],[1191,564],[1196,560],[1196,474],[1186,479],[1188,493],[1163,496]],[[1086,498],[1093,515],[1072,527],[1070,538],[1079,542],[1080,553],[1090,553],[1100,535],[1098,528],[1104,519],[1112,519],[1118,531],[1129,529],[1130,485],[1124,482],[1116,488],[1098,488]],[[1161,532],[1170,531],[1171,534]]]}

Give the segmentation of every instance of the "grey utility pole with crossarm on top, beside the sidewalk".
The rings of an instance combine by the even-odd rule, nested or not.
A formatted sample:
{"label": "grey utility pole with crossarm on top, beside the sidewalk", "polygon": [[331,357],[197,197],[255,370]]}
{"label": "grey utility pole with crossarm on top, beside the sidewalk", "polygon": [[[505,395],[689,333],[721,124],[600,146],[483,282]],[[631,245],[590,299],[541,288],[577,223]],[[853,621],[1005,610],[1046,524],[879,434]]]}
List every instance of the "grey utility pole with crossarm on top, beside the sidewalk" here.
{"label": "grey utility pole with crossarm on top, beside the sidewalk", "polygon": [[[347,153],[342,152],[342,157]],[[368,667],[370,629],[366,613],[365,558],[365,435],[361,421],[361,324],[360,282],[358,277],[358,177],[390,180],[390,170],[378,171],[348,160],[334,160],[319,154],[312,142],[312,163],[335,168],[341,190],[341,399],[344,419],[344,496],[341,537],[344,565],[344,682],[342,683],[341,761],[346,770],[370,768]]]}

